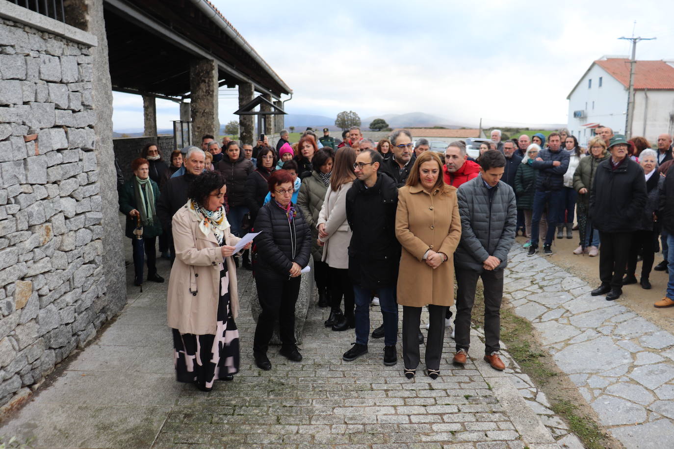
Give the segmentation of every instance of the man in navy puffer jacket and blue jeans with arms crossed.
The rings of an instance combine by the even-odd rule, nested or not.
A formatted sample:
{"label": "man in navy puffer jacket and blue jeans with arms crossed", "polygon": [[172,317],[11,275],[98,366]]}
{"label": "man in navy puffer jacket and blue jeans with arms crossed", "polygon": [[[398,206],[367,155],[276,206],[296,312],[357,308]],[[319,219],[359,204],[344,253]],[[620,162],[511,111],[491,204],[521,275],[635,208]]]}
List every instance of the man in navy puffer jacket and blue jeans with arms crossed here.
{"label": "man in navy puffer jacket and blue jeans with arms crossed", "polygon": [[552,255],[552,240],[555,238],[557,223],[564,221],[564,174],[569,168],[569,152],[561,147],[558,133],[548,136],[549,147],[541,149],[531,166],[539,170],[534,192],[534,208],[531,217],[531,245],[529,256],[539,250],[539,223],[547,207],[548,230],[543,242],[543,252]]}

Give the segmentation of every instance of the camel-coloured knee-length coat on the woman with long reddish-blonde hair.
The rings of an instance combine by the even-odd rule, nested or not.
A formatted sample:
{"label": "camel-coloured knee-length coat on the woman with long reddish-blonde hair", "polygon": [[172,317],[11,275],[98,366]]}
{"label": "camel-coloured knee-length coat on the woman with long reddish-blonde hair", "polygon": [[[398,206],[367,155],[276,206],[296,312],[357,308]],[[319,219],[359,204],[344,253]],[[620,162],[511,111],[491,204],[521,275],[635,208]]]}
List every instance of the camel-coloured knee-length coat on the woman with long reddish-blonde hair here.
{"label": "camel-coloured knee-length coat on the woman with long reddish-blonde hair", "polygon": [[[398,190],[396,238],[402,245],[398,304],[422,307],[454,304],[454,250],[461,238],[456,188],[427,193],[421,185]],[[432,269],[422,260],[427,250],[443,252],[447,261]]]}

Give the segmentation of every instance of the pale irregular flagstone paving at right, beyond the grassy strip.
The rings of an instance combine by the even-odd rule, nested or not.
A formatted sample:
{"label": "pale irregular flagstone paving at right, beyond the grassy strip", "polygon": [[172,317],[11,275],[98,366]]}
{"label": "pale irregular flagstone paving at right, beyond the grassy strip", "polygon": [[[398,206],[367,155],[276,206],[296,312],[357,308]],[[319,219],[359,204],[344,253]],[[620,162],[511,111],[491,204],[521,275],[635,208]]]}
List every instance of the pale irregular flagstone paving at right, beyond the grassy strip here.
{"label": "pale irregular flagstone paving at right, beyond the grassy strip", "polygon": [[617,440],[626,448],[667,447],[674,439],[674,335],[621,305],[624,296],[590,296],[594,287],[514,248],[504,292]]}

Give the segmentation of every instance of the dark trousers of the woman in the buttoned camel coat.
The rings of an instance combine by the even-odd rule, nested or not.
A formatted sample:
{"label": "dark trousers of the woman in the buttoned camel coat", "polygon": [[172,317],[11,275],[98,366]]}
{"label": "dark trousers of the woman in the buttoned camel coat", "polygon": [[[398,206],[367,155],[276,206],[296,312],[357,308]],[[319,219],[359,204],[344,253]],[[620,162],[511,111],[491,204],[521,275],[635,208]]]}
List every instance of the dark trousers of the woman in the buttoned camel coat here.
{"label": "dark trousers of the woman in the buttoned camel coat", "polygon": [[[445,338],[445,313],[448,307],[429,304],[429,328],[426,339],[426,368],[437,370],[440,368],[442,357],[442,342]],[[405,368],[416,370],[419,366],[419,324],[421,322],[421,307],[402,306],[402,359]]]}

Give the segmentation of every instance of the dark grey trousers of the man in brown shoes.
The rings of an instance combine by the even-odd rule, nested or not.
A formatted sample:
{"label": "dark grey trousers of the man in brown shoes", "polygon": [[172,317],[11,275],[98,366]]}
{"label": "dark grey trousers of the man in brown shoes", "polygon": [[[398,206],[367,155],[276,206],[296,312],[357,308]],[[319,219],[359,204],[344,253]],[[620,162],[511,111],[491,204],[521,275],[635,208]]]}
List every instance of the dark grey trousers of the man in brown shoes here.
{"label": "dark grey trousers of the man in brown shoes", "polygon": [[485,353],[501,350],[501,301],[503,300],[503,270],[456,269],[456,318],[454,341],[456,350],[470,347],[470,315],[475,303],[477,279],[481,277],[485,296]]}

